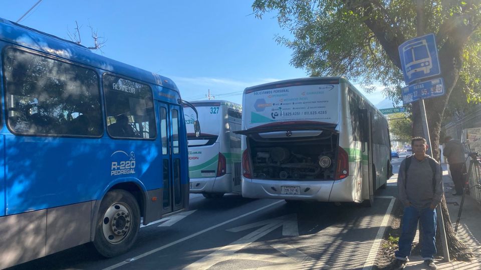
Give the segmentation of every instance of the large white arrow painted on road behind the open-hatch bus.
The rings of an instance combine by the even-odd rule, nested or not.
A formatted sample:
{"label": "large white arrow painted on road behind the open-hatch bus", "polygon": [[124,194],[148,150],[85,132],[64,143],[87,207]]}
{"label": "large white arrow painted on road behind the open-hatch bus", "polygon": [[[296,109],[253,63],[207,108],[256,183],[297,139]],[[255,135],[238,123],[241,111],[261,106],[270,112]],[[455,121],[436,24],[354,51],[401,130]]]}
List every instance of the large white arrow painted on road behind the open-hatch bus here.
{"label": "large white arrow painted on road behind the open-hatch bus", "polygon": [[[242,254],[235,254],[235,252],[237,252],[240,249],[243,249],[244,247],[250,245],[251,243],[258,240],[259,238],[265,236],[269,232],[271,232],[271,231],[273,231],[273,230],[275,230],[275,229],[277,229],[281,226],[283,226],[283,235],[295,235],[295,236],[299,235],[299,228],[298,228],[298,225],[297,225],[297,215],[296,214],[289,214],[289,215],[284,215],[284,216],[280,216],[280,217],[277,217],[277,218],[272,218],[272,219],[267,219],[267,220],[263,220],[263,221],[259,221],[259,222],[254,222],[254,223],[251,223],[251,224],[242,225],[242,226],[238,226],[238,227],[228,229],[228,231],[238,232],[238,231],[242,231],[242,230],[246,230],[246,229],[250,229],[250,228],[255,228],[255,227],[259,227],[259,226],[262,226],[262,227],[256,229],[255,231],[249,233],[248,235],[230,243],[229,245],[226,245],[226,246],[223,246],[223,247],[217,249],[216,251],[202,257],[201,259],[195,261],[194,263],[189,264],[184,269],[186,269],[186,270],[208,269],[209,267],[215,265],[218,262],[238,258],[239,256],[246,256],[246,255],[242,255]],[[299,250],[297,250],[293,247],[291,247],[291,248],[281,248],[282,247],[281,245],[279,245],[278,247],[281,250],[284,250],[284,252],[286,252],[286,253],[284,253],[281,250],[279,250],[279,251],[283,252],[284,254],[286,254],[291,259],[290,260],[286,260],[286,258],[273,259],[273,257],[276,257],[276,256],[270,256],[269,258],[271,258],[271,259],[269,259],[268,261],[274,260],[274,262],[278,262],[279,260],[282,260],[283,263],[286,263],[286,262],[289,262],[289,261],[290,261],[290,263],[293,263],[293,262],[295,263],[295,262],[303,261],[306,258],[308,258],[308,256],[306,254],[302,253],[301,251],[299,251]],[[294,250],[292,250],[292,249],[294,249]],[[290,255],[292,255],[293,257],[291,257]],[[256,259],[255,257],[257,257],[259,259],[259,256],[261,256],[261,255],[247,254],[247,256],[248,256],[248,259]],[[263,257],[264,259],[262,259],[262,260],[265,260],[267,257],[265,255],[263,255],[263,256],[264,256]],[[299,261],[298,261],[298,259],[299,259]]]}

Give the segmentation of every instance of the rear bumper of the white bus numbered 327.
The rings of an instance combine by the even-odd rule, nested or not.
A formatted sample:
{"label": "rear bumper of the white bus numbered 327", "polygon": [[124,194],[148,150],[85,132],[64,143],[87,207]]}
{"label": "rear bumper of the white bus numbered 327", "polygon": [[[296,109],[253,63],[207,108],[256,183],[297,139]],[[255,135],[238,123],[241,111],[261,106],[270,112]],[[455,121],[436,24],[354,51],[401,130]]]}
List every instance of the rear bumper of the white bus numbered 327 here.
{"label": "rear bumper of the white bus numbered 327", "polygon": [[227,193],[231,191],[231,173],[219,177],[190,178],[190,193]]}

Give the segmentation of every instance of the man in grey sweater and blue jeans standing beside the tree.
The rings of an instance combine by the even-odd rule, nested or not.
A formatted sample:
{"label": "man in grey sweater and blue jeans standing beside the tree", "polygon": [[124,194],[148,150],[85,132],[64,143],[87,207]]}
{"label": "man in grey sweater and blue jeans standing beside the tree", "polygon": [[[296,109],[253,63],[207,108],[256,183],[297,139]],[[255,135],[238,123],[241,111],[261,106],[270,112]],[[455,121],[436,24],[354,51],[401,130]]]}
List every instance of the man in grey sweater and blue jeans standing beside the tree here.
{"label": "man in grey sweater and blue jeans standing beside the tree", "polygon": [[411,244],[416,235],[418,221],[421,222],[421,256],[429,269],[436,269],[436,206],[443,193],[441,167],[426,154],[426,139],[414,137],[411,140],[414,155],[401,162],[397,176],[399,200],[404,205],[402,232],[399,249],[395,252],[394,269],[404,268],[411,254]]}

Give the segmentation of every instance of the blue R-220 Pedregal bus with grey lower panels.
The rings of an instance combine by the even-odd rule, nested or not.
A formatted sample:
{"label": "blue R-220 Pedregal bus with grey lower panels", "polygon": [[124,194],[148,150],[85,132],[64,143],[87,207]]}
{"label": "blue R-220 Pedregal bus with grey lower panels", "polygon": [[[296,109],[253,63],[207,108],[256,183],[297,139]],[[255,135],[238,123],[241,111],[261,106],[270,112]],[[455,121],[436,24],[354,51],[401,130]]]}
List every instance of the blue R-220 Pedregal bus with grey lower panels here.
{"label": "blue R-220 Pedregal bus with grey lower panels", "polygon": [[2,18],[0,49],[0,268],[87,242],[115,256],[187,209],[172,80]]}

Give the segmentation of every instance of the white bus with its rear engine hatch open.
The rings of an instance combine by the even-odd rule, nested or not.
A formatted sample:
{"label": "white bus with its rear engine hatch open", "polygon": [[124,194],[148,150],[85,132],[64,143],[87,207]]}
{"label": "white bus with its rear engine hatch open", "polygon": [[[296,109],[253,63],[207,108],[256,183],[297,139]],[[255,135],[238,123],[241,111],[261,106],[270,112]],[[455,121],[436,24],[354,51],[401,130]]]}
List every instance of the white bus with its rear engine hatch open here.
{"label": "white bus with its rear engine hatch open", "polygon": [[343,77],[244,90],[242,195],[372,205],[391,173],[388,123]]}

